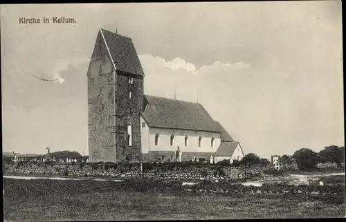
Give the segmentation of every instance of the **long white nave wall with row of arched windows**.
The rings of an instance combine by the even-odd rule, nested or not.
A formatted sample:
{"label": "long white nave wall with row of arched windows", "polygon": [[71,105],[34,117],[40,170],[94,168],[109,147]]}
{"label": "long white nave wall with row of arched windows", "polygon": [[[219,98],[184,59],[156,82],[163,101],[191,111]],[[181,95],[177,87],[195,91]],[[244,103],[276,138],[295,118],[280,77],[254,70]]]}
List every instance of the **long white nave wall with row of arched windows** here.
{"label": "long white nave wall with row of arched windows", "polygon": [[[155,145],[155,137],[158,134],[158,145]],[[171,135],[174,142],[171,145]],[[188,144],[185,146],[185,136],[188,136]],[[201,137],[201,147],[199,147]],[[211,139],[214,137],[213,146]],[[203,132],[194,130],[174,130],[163,128],[149,128],[149,150],[150,151],[173,151],[179,146],[181,152],[216,152],[221,143],[219,132]]]}

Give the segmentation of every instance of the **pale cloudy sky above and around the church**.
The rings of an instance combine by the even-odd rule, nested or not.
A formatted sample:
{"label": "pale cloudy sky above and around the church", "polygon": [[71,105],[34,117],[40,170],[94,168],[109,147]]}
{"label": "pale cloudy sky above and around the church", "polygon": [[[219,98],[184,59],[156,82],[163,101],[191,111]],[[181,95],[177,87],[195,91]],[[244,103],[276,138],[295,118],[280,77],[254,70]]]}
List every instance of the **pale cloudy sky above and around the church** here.
{"label": "pale cloudy sky above and around the church", "polygon": [[173,99],[176,85],[176,99],[198,100],[245,154],[345,144],[341,1],[35,4],[1,5],[3,152],[88,154],[86,70],[100,28],[131,37],[145,94]]}

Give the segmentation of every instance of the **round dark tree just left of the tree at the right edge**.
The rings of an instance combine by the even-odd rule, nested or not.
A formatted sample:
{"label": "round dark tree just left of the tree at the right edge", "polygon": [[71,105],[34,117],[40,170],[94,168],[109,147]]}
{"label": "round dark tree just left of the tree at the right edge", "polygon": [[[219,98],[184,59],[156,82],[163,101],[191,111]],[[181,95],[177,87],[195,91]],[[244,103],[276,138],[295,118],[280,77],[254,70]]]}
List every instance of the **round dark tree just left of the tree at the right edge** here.
{"label": "round dark tree just left of the tree at the right edge", "polygon": [[299,168],[311,169],[319,162],[318,153],[309,148],[295,151],[292,157],[297,161]]}

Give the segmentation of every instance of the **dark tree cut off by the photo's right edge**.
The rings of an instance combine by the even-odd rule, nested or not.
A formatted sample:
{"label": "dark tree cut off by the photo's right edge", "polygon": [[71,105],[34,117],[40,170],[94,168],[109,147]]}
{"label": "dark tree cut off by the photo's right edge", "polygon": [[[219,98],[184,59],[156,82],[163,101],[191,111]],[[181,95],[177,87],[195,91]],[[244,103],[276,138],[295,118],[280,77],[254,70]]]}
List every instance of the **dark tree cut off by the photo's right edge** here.
{"label": "dark tree cut off by the photo's right edge", "polygon": [[324,150],[319,152],[322,162],[329,161],[336,163],[338,167],[341,167],[341,163],[345,162],[345,148],[338,147],[336,145],[330,145],[325,147]]}

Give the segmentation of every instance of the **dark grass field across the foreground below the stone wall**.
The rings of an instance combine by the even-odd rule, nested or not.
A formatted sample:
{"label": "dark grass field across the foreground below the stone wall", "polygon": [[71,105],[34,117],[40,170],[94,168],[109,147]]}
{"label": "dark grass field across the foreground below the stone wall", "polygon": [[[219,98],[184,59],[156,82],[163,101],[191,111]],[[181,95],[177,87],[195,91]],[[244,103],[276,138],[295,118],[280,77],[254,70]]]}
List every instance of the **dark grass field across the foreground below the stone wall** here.
{"label": "dark grass field across the foreground below the stone wall", "polygon": [[[139,183],[138,183],[139,184]],[[345,204],[307,195],[201,194],[177,184],[3,179],[5,221],[103,221],[343,217]],[[170,188],[168,188],[170,187]]]}

